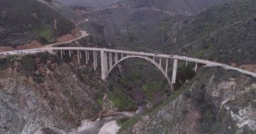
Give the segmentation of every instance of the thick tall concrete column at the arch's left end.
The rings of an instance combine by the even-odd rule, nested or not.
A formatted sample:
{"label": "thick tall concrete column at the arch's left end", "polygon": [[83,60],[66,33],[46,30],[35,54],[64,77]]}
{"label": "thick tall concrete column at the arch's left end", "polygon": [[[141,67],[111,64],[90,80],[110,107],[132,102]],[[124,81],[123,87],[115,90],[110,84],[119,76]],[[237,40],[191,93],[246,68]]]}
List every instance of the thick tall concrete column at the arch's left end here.
{"label": "thick tall concrete column at the arch's left end", "polygon": [[101,60],[101,78],[102,80],[106,79],[108,73],[108,59],[107,54],[104,51],[100,51],[100,60]]}

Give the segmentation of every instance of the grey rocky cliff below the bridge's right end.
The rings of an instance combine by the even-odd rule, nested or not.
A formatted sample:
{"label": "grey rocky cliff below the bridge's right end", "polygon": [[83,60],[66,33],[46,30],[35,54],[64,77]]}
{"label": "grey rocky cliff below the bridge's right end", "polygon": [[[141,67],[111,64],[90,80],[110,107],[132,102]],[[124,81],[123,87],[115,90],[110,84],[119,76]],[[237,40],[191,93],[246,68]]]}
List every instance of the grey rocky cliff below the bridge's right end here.
{"label": "grey rocky cliff below the bridge's right end", "polygon": [[123,133],[255,133],[256,80],[205,68]]}

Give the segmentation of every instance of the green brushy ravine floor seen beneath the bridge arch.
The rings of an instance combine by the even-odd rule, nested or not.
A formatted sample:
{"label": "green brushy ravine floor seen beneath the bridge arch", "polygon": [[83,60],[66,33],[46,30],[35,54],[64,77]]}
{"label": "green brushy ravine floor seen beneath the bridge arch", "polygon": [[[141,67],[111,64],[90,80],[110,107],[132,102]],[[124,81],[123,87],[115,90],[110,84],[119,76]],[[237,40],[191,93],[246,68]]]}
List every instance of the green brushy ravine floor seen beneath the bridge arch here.
{"label": "green brushy ravine floor seen beneath the bridge arch", "polygon": [[[170,88],[168,82],[157,68],[152,68],[152,64],[148,61],[135,58],[127,60],[122,66],[125,68],[122,69],[122,75],[118,70],[110,73],[111,80],[120,76],[118,82],[112,81],[110,83],[113,84],[108,86],[111,90],[109,96],[115,106],[121,109],[124,107],[134,109],[135,104],[143,105],[147,101],[156,104],[162,99],[156,95],[162,96],[168,92],[166,91]],[[133,105],[130,106],[129,103]]]}

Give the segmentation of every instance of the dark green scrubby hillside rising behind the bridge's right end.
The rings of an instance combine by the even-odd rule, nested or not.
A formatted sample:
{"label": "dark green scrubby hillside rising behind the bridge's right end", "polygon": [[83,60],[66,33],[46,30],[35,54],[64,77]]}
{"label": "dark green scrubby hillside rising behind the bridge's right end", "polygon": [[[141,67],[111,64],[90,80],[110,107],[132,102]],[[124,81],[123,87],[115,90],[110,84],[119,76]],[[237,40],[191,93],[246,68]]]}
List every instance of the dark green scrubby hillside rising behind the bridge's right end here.
{"label": "dark green scrubby hillside rising behind the bridge's right end", "polygon": [[255,11],[253,0],[212,8],[184,21],[183,28],[177,34],[172,32],[166,44],[185,55],[252,64],[256,60]]}

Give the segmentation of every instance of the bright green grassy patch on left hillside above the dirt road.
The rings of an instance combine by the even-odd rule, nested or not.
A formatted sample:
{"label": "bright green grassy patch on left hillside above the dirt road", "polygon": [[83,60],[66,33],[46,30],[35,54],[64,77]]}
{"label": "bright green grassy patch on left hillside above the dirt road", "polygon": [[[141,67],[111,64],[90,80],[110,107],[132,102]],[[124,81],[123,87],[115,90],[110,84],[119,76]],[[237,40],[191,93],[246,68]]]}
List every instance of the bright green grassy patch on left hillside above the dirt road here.
{"label": "bright green grassy patch on left hillside above the dirt road", "polygon": [[40,38],[40,41],[44,44],[49,44],[55,42],[55,37],[53,36],[53,29],[49,26],[43,26],[34,30],[34,33]]}

